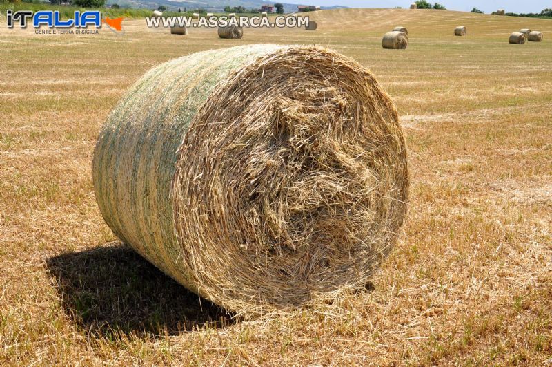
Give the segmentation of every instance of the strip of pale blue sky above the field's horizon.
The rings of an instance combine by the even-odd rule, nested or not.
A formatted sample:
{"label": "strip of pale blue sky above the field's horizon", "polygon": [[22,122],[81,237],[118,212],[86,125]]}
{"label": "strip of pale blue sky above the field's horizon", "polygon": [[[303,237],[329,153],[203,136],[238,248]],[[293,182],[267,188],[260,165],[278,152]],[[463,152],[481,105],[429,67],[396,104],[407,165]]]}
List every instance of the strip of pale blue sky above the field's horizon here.
{"label": "strip of pale blue sky above the field's horizon", "polygon": [[[499,8],[506,12],[540,12],[552,8],[552,0],[428,0],[430,3],[442,3],[450,10],[470,11],[474,6],[486,13]],[[349,8],[393,8],[402,6],[408,8],[414,0],[284,0],[282,3],[311,4],[318,6],[342,5]]]}

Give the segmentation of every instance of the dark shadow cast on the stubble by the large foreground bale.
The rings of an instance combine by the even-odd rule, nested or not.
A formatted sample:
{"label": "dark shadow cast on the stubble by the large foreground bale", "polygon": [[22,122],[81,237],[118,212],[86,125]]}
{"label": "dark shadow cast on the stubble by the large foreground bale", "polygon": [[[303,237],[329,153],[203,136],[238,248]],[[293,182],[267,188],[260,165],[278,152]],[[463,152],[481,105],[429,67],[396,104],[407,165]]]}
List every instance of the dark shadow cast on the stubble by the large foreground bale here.
{"label": "dark shadow cast on the stubble by the large foreground bale", "polygon": [[125,245],[61,254],[46,265],[66,313],[98,335],[161,335],[235,322]]}

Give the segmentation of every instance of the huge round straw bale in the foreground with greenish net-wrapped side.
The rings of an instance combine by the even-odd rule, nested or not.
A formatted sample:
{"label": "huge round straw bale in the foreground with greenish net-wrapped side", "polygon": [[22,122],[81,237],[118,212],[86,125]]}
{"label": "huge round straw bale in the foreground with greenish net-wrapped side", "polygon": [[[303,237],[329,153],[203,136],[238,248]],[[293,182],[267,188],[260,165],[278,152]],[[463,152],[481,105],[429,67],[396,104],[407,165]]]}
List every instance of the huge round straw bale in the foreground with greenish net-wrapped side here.
{"label": "huge round straw bale in the foreground with greenish net-wrapped side", "polygon": [[314,46],[153,68],[101,130],[92,174],[121,241],[234,311],[363,287],[408,200],[393,102],[366,68]]}

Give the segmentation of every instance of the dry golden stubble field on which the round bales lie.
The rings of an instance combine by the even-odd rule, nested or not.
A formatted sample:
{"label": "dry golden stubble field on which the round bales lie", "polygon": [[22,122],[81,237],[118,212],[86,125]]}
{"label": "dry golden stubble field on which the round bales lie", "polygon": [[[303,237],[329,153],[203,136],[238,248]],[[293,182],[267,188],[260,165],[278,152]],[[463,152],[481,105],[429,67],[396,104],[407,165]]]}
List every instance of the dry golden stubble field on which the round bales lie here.
{"label": "dry golden stubble field on which the round bales lie", "polygon": [[[337,10],[318,30],[0,30],[0,364],[551,364],[552,21]],[[0,19],[5,23],[5,19]],[[340,23],[337,23],[339,21]],[[406,50],[382,35],[408,28]],[[454,37],[458,24],[469,28]],[[540,43],[508,44],[531,28]],[[152,65],[320,44],[371,69],[407,133],[404,236],[366,292],[239,322],[115,241],[92,195],[101,124]]]}

